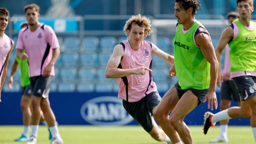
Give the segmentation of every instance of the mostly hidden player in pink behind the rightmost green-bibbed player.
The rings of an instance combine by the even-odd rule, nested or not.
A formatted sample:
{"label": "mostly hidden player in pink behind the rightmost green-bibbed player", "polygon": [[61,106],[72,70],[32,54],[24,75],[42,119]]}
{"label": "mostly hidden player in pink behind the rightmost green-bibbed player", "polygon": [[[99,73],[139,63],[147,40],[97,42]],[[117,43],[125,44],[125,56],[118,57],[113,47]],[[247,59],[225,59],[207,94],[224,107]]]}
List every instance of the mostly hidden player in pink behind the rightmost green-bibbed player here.
{"label": "mostly hidden player in pink behind the rightmost green-bibbed player", "polygon": [[[237,11],[232,11],[228,13],[228,23],[231,24],[233,20],[239,18],[239,14]],[[240,106],[240,97],[238,95],[238,91],[232,79],[230,79],[230,59],[229,59],[229,51],[230,48],[228,45],[225,47],[225,62],[223,67],[223,82],[221,85],[220,90],[220,110],[223,111],[228,109],[231,104],[231,99],[233,97],[234,101],[238,102]],[[216,55],[218,51],[215,52]],[[218,53],[220,54],[220,53]],[[221,74],[218,75],[218,79],[221,79]],[[220,81],[218,81],[220,82]],[[218,83],[218,86],[219,83]],[[228,142],[227,137],[227,130],[228,130],[228,119],[220,121],[220,136],[216,139],[210,140],[211,143],[217,142]]]}

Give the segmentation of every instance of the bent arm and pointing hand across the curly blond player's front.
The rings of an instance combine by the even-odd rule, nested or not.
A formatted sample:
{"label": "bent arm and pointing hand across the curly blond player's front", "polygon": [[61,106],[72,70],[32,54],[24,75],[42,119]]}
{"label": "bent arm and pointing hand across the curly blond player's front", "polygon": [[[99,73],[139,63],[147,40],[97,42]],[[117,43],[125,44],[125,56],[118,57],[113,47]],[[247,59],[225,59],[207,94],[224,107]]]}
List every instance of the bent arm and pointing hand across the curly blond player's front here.
{"label": "bent arm and pointing hand across the curly blond player's front", "polygon": [[151,69],[149,69],[145,66],[140,66],[140,67],[134,68],[134,69],[117,68],[119,63],[121,62],[121,58],[123,56],[124,56],[123,46],[116,45],[113,50],[113,54],[108,61],[108,65],[107,65],[106,72],[105,72],[106,78],[121,78],[121,77],[125,77],[125,76],[132,75],[132,74],[145,75],[147,71],[152,72]]}

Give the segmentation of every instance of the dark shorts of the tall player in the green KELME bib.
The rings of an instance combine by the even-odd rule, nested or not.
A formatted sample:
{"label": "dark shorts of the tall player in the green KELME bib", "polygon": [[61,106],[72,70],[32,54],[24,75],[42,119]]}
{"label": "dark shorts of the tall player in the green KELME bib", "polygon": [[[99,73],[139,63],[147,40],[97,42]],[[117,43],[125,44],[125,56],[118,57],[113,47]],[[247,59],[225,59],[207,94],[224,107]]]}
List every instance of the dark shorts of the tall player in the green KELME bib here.
{"label": "dark shorts of the tall player in the green KELME bib", "polygon": [[206,94],[208,93],[208,90],[209,90],[209,89],[198,90],[198,89],[193,89],[193,88],[188,88],[188,89],[183,90],[183,89],[181,89],[181,87],[179,85],[179,81],[176,82],[175,86],[176,86],[179,98],[181,98],[184,95],[184,93],[187,92],[188,90],[192,91],[192,93],[194,95],[196,95],[198,98],[197,105],[200,105],[202,103],[202,101],[204,100],[204,97],[206,96]]}

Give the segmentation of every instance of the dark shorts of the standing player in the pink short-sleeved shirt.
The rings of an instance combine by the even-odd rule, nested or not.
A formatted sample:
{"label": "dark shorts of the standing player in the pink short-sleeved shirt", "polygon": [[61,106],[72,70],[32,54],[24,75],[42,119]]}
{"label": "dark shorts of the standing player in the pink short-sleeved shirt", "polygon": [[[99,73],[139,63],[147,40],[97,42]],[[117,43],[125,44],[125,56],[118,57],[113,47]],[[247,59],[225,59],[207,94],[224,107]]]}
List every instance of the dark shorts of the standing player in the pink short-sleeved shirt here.
{"label": "dark shorts of the standing player in the pink short-sleeved shirt", "polygon": [[54,76],[35,76],[30,77],[30,84],[32,87],[32,95],[47,98],[49,96],[50,87]]}

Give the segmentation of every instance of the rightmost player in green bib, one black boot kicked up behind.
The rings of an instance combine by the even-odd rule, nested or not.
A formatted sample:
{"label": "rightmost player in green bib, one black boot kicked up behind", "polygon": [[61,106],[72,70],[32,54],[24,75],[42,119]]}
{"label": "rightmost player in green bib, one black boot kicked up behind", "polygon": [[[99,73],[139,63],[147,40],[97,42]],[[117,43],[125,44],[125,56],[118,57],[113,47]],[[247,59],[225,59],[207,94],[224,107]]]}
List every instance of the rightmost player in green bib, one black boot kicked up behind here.
{"label": "rightmost player in green bib, one black boot kicked up behind", "polygon": [[[217,114],[206,112],[204,134],[218,121],[251,116],[256,142],[256,23],[250,20],[254,10],[253,0],[236,0],[236,3],[239,19],[223,30],[215,51],[220,61],[222,50],[227,44],[230,47],[230,77],[239,92],[241,107],[231,107]],[[218,74],[221,76],[220,71]],[[218,79],[218,84],[221,80]]]}

